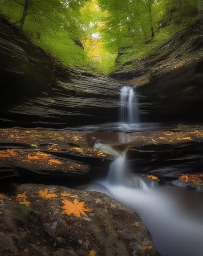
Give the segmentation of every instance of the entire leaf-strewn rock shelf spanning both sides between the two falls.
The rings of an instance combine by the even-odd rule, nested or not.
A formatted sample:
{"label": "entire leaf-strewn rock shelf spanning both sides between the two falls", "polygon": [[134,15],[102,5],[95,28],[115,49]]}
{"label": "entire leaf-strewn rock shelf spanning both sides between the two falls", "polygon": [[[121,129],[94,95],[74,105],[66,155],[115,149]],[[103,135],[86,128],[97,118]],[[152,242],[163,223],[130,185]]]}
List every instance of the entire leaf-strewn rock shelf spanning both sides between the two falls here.
{"label": "entire leaf-strewn rock shelf spanning both sides between the two falls", "polygon": [[[203,132],[197,128],[128,133],[0,129],[1,191],[9,191],[10,182],[82,185],[104,177],[113,157],[126,151],[128,169],[137,174],[175,180],[200,173]],[[102,146],[92,149],[95,142]]]}

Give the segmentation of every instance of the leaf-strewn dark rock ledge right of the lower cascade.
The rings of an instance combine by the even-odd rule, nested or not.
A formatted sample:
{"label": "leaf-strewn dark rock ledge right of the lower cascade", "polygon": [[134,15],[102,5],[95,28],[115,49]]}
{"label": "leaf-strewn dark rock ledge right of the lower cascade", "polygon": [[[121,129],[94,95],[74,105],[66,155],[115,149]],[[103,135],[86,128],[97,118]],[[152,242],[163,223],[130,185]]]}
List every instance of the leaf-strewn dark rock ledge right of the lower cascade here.
{"label": "leaf-strewn dark rock ledge right of the lower cascade", "polygon": [[[181,174],[202,172],[203,131],[194,126],[185,131],[138,131],[129,133],[89,133],[99,150],[117,155],[126,152],[127,170],[159,178],[178,178]],[[189,128],[189,127],[188,127]],[[113,134],[113,133],[112,133]]]}

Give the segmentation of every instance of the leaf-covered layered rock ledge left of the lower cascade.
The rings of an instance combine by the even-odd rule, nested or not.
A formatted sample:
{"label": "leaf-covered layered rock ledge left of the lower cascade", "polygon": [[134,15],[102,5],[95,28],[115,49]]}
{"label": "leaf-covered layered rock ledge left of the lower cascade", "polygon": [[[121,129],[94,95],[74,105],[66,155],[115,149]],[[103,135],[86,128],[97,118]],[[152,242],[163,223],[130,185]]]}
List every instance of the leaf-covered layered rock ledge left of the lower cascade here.
{"label": "leaf-covered layered rock ledge left of the lower cascade", "polygon": [[108,170],[111,156],[91,149],[84,133],[0,129],[0,182],[74,186]]}

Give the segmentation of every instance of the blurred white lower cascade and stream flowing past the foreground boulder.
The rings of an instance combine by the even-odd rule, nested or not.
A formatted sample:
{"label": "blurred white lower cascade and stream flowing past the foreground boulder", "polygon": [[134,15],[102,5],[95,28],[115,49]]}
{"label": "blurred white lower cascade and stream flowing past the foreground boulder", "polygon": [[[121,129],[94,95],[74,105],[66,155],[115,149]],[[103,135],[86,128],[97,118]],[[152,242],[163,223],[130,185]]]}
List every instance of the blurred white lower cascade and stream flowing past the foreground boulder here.
{"label": "blurred white lower cascade and stream flowing past the foreground boulder", "polygon": [[161,256],[203,255],[203,194],[130,174],[126,156],[117,158],[108,176],[86,187],[106,193],[136,211]]}

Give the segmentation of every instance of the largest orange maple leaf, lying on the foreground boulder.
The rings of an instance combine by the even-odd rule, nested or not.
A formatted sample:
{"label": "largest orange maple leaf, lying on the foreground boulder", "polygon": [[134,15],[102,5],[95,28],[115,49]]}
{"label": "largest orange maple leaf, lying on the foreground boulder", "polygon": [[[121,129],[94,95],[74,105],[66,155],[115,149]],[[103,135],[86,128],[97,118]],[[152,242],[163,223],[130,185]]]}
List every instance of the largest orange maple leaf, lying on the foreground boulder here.
{"label": "largest orange maple leaf, lying on the foreground boulder", "polygon": [[92,211],[93,209],[90,208],[85,208],[84,207],[84,202],[80,202],[75,199],[73,203],[71,201],[65,200],[62,201],[64,204],[61,209],[65,209],[64,211],[61,212],[61,214],[67,214],[71,215],[73,214],[74,216],[80,217],[80,213],[84,216],[87,216],[85,211]]}

